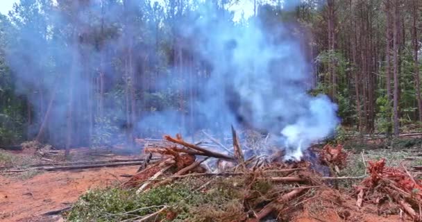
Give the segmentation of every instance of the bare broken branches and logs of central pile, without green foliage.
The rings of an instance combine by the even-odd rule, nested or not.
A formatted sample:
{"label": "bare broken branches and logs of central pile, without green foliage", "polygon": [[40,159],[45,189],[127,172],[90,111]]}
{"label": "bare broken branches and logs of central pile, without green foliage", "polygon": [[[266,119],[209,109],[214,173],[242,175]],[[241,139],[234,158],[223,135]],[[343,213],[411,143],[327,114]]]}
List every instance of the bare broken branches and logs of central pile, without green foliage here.
{"label": "bare broken branches and logs of central pile, without green foliage", "polygon": [[[321,177],[319,173],[310,170],[309,162],[274,162],[277,158],[262,158],[253,156],[245,160],[239,138],[233,130],[233,152],[217,153],[201,144],[186,142],[180,135],[171,137],[165,135],[168,143],[160,142],[153,146],[150,143],[145,148],[146,153],[160,155],[160,161],[142,166],[138,172],[122,183],[122,187],[135,188],[137,194],[148,189],[166,185],[171,181],[180,178],[206,178],[204,185],[199,187],[203,191],[206,185],[215,178],[246,178],[243,206],[240,215],[233,221],[261,221],[262,219],[277,218],[281,214],[287,216],[286,210],[300,208],[301,201],[309,198],[311,190],[326,187],[325,181],[341,180],[344,178]],[[217,143],[217,142],[216,142]],[[218,146],[223,146],[219,144]],[[328,162],[337,163],[340,158],[346,158],[340,149],[338,153],[332,153],[327,149]],[[151,157],[152,154],[149,154]],[[210,167],[212,158],[217,167]],[[344,159],[341,159],[344,160]],[[346,178],[347,179],[347,178]],[[271,183],[273,188],[266,190],[267,194],[257,194],[252,187],[257,182],[266,181]],[[264,196],[264,198],[263,198]],[[294,212],[294,210],[292,210]],[[167,212],[169,214],[169,212]],[[176,214],[172,212],[171,214]]]}

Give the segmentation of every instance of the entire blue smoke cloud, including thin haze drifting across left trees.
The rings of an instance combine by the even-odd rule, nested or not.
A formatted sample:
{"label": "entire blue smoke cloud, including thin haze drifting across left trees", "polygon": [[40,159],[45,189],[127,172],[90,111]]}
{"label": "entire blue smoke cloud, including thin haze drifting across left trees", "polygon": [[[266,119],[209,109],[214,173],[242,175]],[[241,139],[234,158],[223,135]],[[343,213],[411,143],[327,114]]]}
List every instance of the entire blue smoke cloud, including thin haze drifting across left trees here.
{"label": "entire blue smoke cloud, including thin haze drifting across left trees", "polygon": [[[58,6],[65,8],[66,2],[72,1],[58,1]],[[112,87],[126,83],[118,77],[127,78],[122,74],[125,60],[121,58],[128,55],[128,42],[135,40],[144,41],[135,42],[131,51],[139,84],[142,86],[142,81],[146,80],[147,71],[157,73],[148,74],[155,79],[155,85],[148,86],[149,96],[167,94],[174,101],[178,99],[176,94],[194,92],[189,101],[185,101],[190,105],[183,104],[186,110],[162,103],[147,104],[154,109],[136,112],[137,133],[158,129],[162,133],[186,135],[194,133],[192,128],[224,133],[232,124],[246,125],[270,133],[273,143],[285,148],[287,158],[299,159],[313,142],[332,135],[339,123],[337,105],[328,96],[307,93],[312,85],[312,70],[309,56],[304,55],[306,40],[294,21],[280,15],[301,1],[278,1],[283,10],[277,6],[261,6],[257,10],[258,16],[242,18],[238,22],[233,22],[233,13],[226,10],[225,1],[220,5],[214,1],[189,1],[189,8],[174,9],[169,5],[160,6],[162,1],[142,4],[124,1],[124,7],[119,1],[81,2],[85,3],[74,7],[83,9],[68,14],[67,10],[54,10],[53,3],[40,8],[40,19],[48,14],[48,21],[18,21],[19,16],[12,21],[23,25],[16,31],[17,37],[11,37],[15,48],[8,51],[8,59],[18,78],[17,90],[28,96],[37,111],[35,128],[39,128],[45,117],[46,98],[52,96],[56,99],[52,103],[50,119],[56,121],[49,121],[49,132],[65,130],[69,104],[76,104],[71,108],[73,133],[80,141],[92,135],[88,132],[92,125],[101,130],[102,125],[96,121],[92,123],[92,119],[101,119],[102,113],[125,121],[128,106],[121,99],[124,95],[121,91],[113,91]],[[242,1],[237,4],[242,5]],[[144,12],[144,8],[149,9]],[[140,11],[137,19],[121,18]],[[156,19],[160,16],[162,19]],[[129,20],[144,24],[128,24]],[[176,65],[167,67],[166,71],[155,68],[162,65],[158,64],[163,56],[157,48],[166,36],[155,32],[163,22],[171,26],[174,48],[189,57],[185,62],[174,62]],[[56,32],[58,29],[62,32]],[[69,37],[74,32],[78,32],[78,40]],[[97,37],[101,33],[106,33],[107,37]],[[145,33],[150,39],[139,37]],[[176,53],[172,56],[175,61],[182,57]],[[145,62],[146,58],[149,62]],[[188,73],[195,74],[189,76]],[[96,97],[100,91],[99,75],[106,81],[101,90],[109,96],[101,103]],[[73,85],[69,85],[70,82]],[[134,86],[145,91],[145,86],[140,85]],[[34,89],[44,92],[34,92]],[[73,95],[69,96],[69,92]],[[142,99],[147,98],[143,96]],[[104,110],[98,111],[98,115],[86,111],[97,112],[102,107]],[[191,114],[192,119],[186,122],[193,126],[180,122],[180,117],[187,114]]]}

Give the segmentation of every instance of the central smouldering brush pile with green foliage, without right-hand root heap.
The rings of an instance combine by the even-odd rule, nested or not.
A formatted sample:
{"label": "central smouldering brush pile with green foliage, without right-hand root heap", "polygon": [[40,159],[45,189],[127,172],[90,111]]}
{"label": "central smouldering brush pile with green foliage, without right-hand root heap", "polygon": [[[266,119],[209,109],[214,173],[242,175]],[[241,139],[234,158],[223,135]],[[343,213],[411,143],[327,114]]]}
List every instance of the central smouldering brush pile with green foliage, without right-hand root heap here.
{"label": "central smouldering brush pile with green foliage, without right-hand root heap", "polygon": [[[119,189],[131,190],[137,196],[136,200],[121,201],[140,205],[140,210],[132,214],[117,213],[105,206],[108,212],[96,213],[105,215],[105,221],[290,220],[300,214],[303,204],[314,198],[316,191],[328,189],[332,180],[341,179],[321,176],[313,170],[318,169],[314,168],[316,164],[325,163],[324,167],[335,171],[346,158],[341,146],[326,146],[321,151],[321,160],[315,159],[314,163],[282,161],[282,152],[246,159],[244,151],[248,147],[245,144],[242,149],[235,130],[230,139],[233,152],[210,135],[208,138],[226,153],[204,148],[210,144],[191,144],[180,135],[146,142],[146,155],[149,159],[159,156],[160,161],[147,160],[135,175],[119,185]],[[90,202],[107,203],[103,198],[115,194],[91,195],[86,194],[82,202],[76,203],[69,219],[80,219],[78,216],[90,207]],[[96,208],[98,211],[99,207]]]}

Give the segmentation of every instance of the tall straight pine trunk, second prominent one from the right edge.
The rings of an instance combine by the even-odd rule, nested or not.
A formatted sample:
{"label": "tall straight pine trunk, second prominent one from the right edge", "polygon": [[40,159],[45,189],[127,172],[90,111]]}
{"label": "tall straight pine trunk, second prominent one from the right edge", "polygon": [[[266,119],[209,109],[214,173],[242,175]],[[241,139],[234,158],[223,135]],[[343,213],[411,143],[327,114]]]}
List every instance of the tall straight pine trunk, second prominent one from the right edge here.
{"label": "tall straight pine trunk, second prominent one from the right edge", "polygon": [[394,106],[394,135],[397,137],[399,132],[398,129],[398,7],[399,4],[397,1],[394,1],[394,30],[393,30],[393,60],[394,60],[394,95],[393,95],[393,106]]}

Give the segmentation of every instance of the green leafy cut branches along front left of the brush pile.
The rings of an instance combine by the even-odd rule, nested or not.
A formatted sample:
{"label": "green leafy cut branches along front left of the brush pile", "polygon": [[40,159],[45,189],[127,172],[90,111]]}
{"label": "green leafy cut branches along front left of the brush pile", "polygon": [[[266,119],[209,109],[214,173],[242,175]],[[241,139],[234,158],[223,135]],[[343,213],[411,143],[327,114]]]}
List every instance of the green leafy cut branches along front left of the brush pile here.
{"label": "green leafy cut branches along front left of the brush pile", "polygon": [[[199,179],[199,180],[198,180]],[[245,182],[217,178],[203,191],[203,181],[184,179],[136,194],[134,189],[111,187],[87,191],[67,214],[69,221],[134,221],[167,207],[164,221],[238,221],[244,218]],[[263,187],[264,186],[264,189]],[[268,187],[260,184],[256,192]],[[261,190],[263,189],[263,190]]]}

